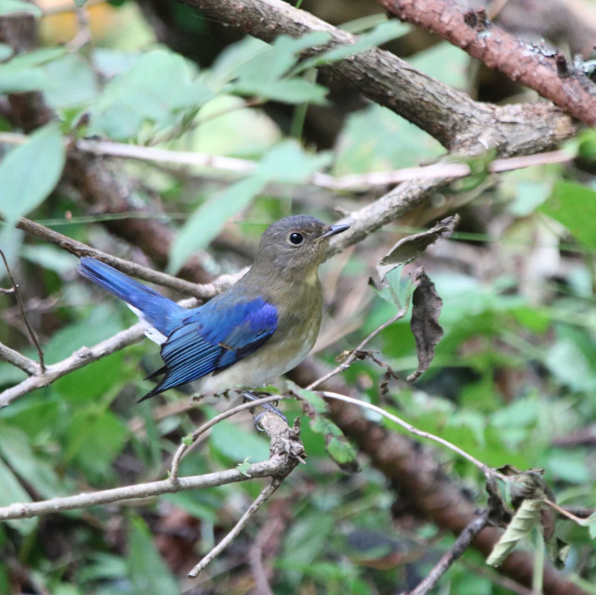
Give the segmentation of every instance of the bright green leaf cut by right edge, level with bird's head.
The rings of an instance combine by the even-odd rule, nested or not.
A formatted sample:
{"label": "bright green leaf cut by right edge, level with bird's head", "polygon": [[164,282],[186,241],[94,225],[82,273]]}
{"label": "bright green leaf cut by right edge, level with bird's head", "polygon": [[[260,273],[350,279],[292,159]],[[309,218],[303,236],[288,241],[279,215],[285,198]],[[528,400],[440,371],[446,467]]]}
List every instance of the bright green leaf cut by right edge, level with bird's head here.
{"label": "bright green leaf cut by right edge, level with bird's head", "polygon": [[567,227],[583,245],[596,249],[596,190],[576,182],[558,181],[538,211]]}

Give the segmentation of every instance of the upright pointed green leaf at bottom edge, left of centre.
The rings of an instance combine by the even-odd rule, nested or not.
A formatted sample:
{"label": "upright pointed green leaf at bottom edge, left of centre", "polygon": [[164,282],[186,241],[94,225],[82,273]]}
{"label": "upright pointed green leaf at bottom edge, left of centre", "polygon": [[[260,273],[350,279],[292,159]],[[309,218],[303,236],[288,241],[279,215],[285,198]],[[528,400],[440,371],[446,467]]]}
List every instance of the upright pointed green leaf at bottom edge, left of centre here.
{"label": "upright pointed green leaf at bottom edge, left of centre", "polygon": [[128,543],[134,595],[178,595],[178,584],[159,555],[147,524],[138,515],[131,516]]}

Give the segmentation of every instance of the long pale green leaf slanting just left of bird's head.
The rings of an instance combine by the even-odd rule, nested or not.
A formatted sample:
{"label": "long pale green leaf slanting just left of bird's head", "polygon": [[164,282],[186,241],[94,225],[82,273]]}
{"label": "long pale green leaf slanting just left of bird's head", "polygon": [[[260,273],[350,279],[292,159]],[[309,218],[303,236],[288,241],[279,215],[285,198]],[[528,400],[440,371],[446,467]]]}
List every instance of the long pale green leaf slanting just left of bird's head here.
{"label": "long pale green leaf slanting just left of bird's head", "polygon": [[232,184],[204,202],[182,226],[170,248],[167,272],[178,273],[188,257],[209,245],[229,218],[249,206],[267,183],[262,176],[251,176]]}

